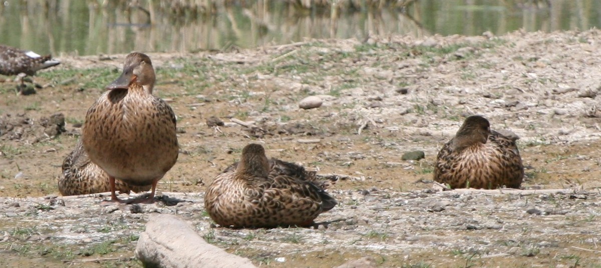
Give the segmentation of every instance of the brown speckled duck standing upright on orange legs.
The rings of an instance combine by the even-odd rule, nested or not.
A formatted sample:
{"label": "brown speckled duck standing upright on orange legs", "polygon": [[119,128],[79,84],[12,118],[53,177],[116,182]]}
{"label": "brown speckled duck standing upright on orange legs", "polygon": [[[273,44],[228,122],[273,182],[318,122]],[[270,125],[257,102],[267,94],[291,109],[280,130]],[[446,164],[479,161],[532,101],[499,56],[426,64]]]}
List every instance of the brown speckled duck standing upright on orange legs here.
{"label": "brown speckled duck standing upright on orange legs", "polygon": [[154,69],[147,55],[127,55],[123,73],[88,109],[82,144],[91,162],[109,176],[111,199],[115,178],[132,186],[151,186],[146,199],[153,203],[156,184],[175,164],[178,155],[175,114],[152,95]]}

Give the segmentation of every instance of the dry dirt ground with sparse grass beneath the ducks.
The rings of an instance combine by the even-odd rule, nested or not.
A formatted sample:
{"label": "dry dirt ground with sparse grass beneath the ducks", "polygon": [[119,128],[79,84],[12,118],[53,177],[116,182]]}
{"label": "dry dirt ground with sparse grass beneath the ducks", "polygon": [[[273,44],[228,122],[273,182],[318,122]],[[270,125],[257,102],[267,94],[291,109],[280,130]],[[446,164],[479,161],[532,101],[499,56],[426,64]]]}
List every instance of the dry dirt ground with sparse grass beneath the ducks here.
{"label": "dry dirt ground with sparse grass beneath the ducks", "polygon": [[[191,202],[145,205],[143,213],[101,207],[94,196],[48,204],[87,108],[117,78],[124,55],[61,58],[34,77],[41,88],[28,96],[4,77],[0,264],[138,267],[130,257],[139,231],[147,213],[161,212],[181,215],[205,239],[262,267],[334,267],[363,256],[378,267],[601,267],[600,34],[389,36],[148,53],[155,94],[178,116],[181,147],[158,190]],[[299,109],[310,95],[323,105]],[[66,126],[53,136],[62,130],[46,118],[56,113]],[[523,189],[569,190],[433,192],[436,153],[471,114],[520,136]],[[208,127],[211,116],[225,126]],[[328,228],[210,228],[204,189],[249,142],[264,144],[271,157],[350,176],[329,190],[340,205],[317,219]],[[426,158],[401,160],[414,150]]]}

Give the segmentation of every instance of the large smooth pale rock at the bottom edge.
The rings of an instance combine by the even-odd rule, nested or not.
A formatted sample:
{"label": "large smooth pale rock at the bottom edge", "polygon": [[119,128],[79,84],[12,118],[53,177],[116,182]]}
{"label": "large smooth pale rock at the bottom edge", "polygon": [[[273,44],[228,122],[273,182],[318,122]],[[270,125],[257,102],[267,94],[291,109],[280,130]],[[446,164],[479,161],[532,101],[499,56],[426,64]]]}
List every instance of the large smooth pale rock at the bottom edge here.
{"label": "large smooth pale rock at the bottom edge", "polygon": [[144,267],[256,268],[250,260],[205,242],[186,222],[163,214],[148,219],[136,246],[136,257]]}

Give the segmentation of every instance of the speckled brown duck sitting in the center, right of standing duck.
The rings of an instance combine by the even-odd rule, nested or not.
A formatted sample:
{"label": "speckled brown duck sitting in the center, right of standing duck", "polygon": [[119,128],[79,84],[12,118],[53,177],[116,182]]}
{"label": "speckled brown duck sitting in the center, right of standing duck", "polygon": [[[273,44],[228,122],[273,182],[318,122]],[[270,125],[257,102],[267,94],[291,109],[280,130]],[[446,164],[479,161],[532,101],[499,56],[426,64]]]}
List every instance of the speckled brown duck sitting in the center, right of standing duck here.
{"label": "speckled brown duck sitting in the center, right of standing duck", "polygon": [[249,144],[239,163],[207,187],[204,207],[222,227],[308,226],[336,206],[314,172],[281,160],[268,160],[263,146]]}

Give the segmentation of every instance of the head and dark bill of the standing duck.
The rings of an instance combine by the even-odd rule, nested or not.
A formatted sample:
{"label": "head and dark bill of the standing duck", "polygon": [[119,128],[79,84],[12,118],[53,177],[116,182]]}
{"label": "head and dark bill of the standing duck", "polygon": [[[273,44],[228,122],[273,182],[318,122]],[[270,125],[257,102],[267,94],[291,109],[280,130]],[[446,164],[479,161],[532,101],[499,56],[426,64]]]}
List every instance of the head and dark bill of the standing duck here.
{"label": "head and dark bill of the standing duck", "polygon": [[155,79],[150,58],[143,53],[133,52],[125,58],[121,76],[109,84],[106,89],[127,90],[130,85],[137,84],[144,87],[147,93],[152,93]]}

